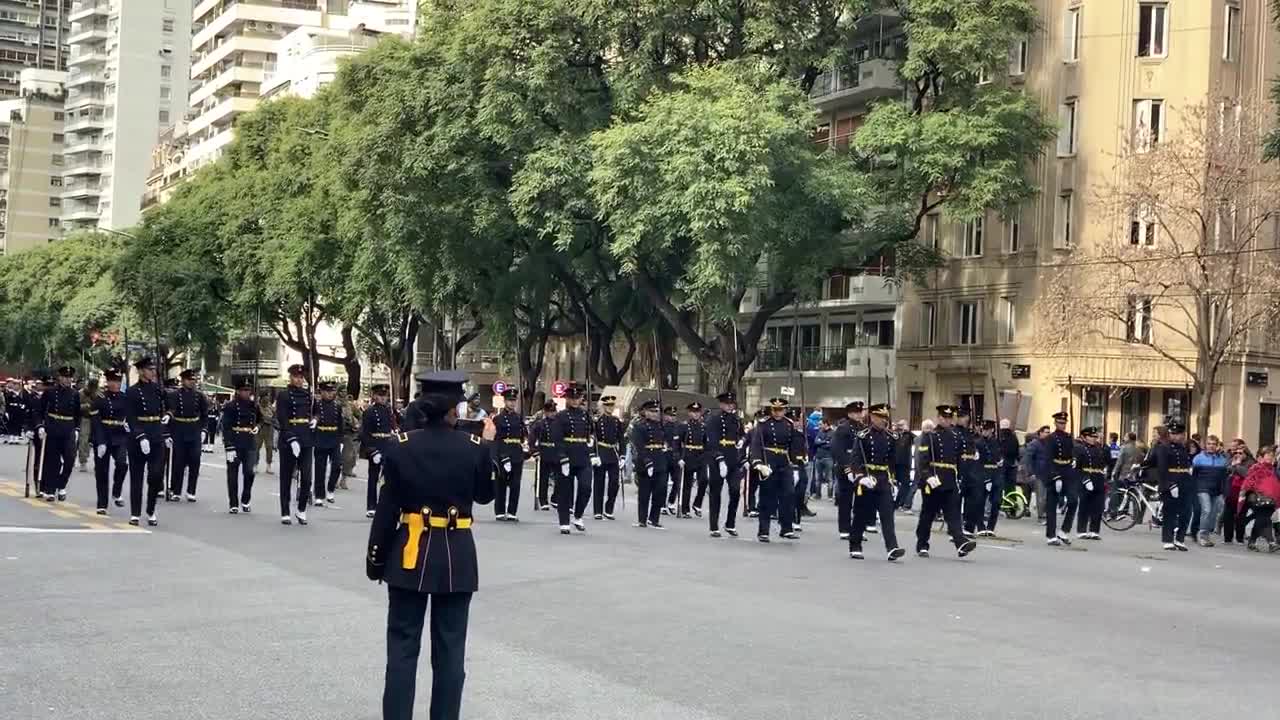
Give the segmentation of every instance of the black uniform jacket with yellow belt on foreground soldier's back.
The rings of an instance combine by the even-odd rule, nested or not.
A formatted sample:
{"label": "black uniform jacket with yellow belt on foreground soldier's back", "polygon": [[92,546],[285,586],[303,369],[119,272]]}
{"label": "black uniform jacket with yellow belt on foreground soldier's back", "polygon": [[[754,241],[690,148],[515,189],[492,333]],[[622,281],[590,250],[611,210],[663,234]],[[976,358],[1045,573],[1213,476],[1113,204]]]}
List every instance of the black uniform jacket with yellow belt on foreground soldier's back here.
{"label": "black uniform jacket with yellow belt on foreground soldier's back", "polygon": [[475,541],[458,521],[470,525],[472,507],[493,502],[492,447],[442,424],[399,433],[387,446],[387,480],[369,530],[370,579],[424,593],[479,589]]}

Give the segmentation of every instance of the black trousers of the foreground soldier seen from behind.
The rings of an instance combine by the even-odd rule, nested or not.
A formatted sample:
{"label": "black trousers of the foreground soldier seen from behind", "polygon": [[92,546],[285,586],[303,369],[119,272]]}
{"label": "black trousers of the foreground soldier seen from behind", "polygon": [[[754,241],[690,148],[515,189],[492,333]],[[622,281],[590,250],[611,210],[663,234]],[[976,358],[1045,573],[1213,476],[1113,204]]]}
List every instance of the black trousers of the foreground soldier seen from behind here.
{"label": "black trousers of the foreground soldier seen from behind", "polygon": [[393,587],[388,589],[383,720],[413,717],[417,659],[422,652],[422,625],[428,610],[431,611],[431,705],[428,717],[457,720],[461,712],[471,593],[426,594]]}

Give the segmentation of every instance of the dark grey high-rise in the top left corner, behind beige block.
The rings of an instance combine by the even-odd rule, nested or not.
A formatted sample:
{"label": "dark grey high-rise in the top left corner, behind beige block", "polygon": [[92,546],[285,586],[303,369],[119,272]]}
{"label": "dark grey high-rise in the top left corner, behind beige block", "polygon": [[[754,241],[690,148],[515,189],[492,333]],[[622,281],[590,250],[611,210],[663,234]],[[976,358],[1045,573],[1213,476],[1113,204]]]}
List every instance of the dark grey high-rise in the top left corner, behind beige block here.
{"label": "dark grey high-rise in the top left corner, behind beige block", "polygon": [[0,99],[19,95],[23,68],[67,69],[72,0],[0,0]]}

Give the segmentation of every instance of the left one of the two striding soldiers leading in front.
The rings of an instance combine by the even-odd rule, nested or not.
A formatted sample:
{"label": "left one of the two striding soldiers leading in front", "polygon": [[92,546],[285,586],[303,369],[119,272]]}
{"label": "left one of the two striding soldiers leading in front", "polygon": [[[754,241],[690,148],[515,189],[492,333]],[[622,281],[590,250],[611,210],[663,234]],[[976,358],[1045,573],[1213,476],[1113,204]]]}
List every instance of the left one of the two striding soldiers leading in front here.
{"label": "left one of the two striding soldiers leading in front", "polygon": [[893,562],[906,553],[897,546],[897,530],[893,527],[895,478],[893,451],[897,441],[888,430],[888,406],[883,402],[868,409],[870,427],[858,433],[858,448],[850,454],[850,471],[854,480],[852,528],[858,532],[849,536],[849,556],[863,559],[861,529],[876,523],[879,515],[881,533],[884,536],[884,550],[888,561]]}

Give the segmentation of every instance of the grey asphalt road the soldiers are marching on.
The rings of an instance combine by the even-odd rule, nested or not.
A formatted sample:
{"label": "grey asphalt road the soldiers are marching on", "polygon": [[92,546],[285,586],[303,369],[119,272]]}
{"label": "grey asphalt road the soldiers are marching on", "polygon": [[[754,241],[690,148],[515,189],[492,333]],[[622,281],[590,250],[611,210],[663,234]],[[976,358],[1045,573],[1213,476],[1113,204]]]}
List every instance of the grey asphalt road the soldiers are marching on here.
{"label": "grey asphalt road the soldiers are marching on", "polygon": [[[22,498],[0,447],[0,719],[379,717],[385,589],[364,480],[282,527],[274,475],[225,512],[221,457],[152,532]],[[468,719],[1276,717],[1280,556],[1169,555],[1143,528],[1080,550],[1029,521],[969,559],[849,560],[833,509],[797,542],[614,523],[561,537],[477,512]],[[745,525],[744,525],[745,527]],[[915,518],[899,516],[900,534]],[[869,550],[879,550],[873,536]],[[426,717],[430,671],[420,671]]]}

